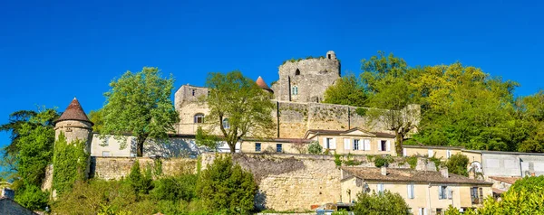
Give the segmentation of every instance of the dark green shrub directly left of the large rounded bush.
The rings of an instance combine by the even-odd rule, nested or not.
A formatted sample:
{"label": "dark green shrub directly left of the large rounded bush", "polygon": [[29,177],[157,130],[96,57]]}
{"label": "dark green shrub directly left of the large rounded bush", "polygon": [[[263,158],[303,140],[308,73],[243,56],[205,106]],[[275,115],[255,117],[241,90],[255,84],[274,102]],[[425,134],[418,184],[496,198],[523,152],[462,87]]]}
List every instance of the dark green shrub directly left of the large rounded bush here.
{"label": "dark green shrub directly left of the large rounded bush", "polygon": [[154,188],[151,191],[151,196],[156,200],[191,201],[196,197],[197,179],[195,174],[161,178],[153,182]]}

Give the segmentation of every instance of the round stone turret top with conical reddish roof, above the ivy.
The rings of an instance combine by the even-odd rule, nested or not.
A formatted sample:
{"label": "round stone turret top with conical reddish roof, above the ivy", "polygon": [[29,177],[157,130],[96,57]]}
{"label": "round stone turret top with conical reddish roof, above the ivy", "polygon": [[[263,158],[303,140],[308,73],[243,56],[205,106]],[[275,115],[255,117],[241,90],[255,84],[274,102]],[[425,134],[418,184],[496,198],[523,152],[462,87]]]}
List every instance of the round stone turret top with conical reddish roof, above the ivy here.
{"label": "round stone turret top with conical reddish roof, above the ivy", "polygon": [[83,140],[85,152],[91,153],[92,122],[89,120],[77,98],[64,110],[63,115],[54,122],[54,140],[58,140],[61,132],[66,136],[66,143]]}

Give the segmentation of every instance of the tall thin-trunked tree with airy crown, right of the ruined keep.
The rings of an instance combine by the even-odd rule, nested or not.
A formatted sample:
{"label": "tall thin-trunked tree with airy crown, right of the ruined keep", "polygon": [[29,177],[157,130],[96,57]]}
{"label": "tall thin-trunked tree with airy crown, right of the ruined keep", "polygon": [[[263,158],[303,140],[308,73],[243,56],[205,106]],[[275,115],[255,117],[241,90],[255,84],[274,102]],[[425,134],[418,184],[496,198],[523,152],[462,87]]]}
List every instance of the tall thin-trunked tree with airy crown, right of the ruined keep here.
{"label": "tall thin-trunked tree with airy crown, right of the ruined keep", "polygon": [[417,90],[410,83],[413,70],[406,62],[393,53],[363,60],[361,79],[364,89],[369,92],[366,116],[374,123],[381,123],[396,136],[395,151],[402,154],[403,141],[417,126],[419,108],[410,106],[419,102]]}

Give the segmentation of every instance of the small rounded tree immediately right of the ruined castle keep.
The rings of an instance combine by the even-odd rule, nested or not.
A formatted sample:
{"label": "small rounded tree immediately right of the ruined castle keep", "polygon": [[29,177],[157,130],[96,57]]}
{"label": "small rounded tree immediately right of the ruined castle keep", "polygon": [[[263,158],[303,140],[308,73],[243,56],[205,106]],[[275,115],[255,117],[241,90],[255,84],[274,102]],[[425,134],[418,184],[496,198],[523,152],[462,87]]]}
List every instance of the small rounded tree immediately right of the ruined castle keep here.
{"label": "small rounded tree immediately right of the ruined castle keep", "polygon": [[324,103],[363,107],[366,93],[354,74],[337,79],[335,85],[325,90]]}

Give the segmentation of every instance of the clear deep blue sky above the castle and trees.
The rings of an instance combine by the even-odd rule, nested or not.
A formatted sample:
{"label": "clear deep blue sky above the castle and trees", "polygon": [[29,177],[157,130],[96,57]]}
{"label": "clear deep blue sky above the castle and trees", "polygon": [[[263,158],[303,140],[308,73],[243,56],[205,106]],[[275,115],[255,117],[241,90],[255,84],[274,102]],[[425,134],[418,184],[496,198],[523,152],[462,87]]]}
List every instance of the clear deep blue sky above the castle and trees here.
{"label": "clear deep blue sky above the castle and trees", "polygon": [[[112,3],[114,2],[114,3]],[[474,3],[478,2],[478,3]],[[159,67],[176,89],[210,71],[277,79],[291,58],[333,50],[358,72],[376,51],[410,65],[461,61],[542,88],[539,1],[2,1],[0,124],[16,110],[101,108],[126,70]],[[0,133],[0,145],[9,143]]]}

